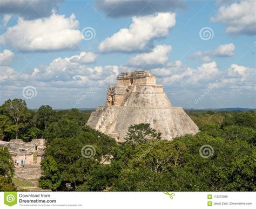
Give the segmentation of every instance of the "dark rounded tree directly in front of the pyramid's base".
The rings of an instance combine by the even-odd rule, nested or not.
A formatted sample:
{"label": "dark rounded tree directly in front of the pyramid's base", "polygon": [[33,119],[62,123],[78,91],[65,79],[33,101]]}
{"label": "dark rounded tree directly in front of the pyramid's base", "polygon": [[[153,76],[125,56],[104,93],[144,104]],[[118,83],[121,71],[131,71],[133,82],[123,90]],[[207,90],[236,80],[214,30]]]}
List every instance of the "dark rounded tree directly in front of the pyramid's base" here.
{"label": "dark rounded tree directly in front of the pyramid's base", "polygon": [[149,123],[140,123],[130,126],[128,129],[126,143],[145,143],[151,140],[161,140],[161,133],[150,127]]}

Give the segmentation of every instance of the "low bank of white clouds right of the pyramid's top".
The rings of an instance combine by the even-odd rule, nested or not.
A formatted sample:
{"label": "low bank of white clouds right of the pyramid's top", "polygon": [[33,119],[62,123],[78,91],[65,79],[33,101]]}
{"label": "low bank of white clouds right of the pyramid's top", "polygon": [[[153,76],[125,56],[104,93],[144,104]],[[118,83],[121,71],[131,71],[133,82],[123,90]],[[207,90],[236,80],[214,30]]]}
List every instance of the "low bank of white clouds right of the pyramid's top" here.
{"label": "low bank of white clouds right of the pyramid's top", "polygon": [[209,83],[218,83],[216,88],[232,91],[234,89],[256,90],[256,69],[242,65],[232,64],[225,71],[219,71],[215,61],[201,64],[192,68],[183,64],[180,60],[168,63],[164,67],[151,70],[166,87],[180,90],[201,90]]}

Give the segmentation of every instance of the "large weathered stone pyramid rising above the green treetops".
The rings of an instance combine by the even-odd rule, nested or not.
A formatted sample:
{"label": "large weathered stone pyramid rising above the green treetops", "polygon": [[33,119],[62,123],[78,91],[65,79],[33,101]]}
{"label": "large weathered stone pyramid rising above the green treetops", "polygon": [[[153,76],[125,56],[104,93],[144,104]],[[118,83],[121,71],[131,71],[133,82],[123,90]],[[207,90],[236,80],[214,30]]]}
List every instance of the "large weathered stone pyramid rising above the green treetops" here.
{"label": "large weathered stone pyramid rising above the green treetops", "polygon": [[117,85],[107,89],[106,105],[92,112],[86,124],[124,142],[128,128],[139,123],[150,123],[164,140],[198,132],[183,108],[172,107],[156,76],[149,71],[124,72]]}

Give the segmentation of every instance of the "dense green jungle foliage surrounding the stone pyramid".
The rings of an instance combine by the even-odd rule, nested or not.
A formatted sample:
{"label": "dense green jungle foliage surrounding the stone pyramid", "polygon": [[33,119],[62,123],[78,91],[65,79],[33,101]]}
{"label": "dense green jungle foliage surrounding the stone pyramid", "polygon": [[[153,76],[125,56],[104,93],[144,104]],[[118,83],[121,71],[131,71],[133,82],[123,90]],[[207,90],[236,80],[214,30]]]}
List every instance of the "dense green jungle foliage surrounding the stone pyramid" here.
{"label": "dense green jungle foliage surrounding the stone pyramid", "polygon": [[[166,141],[150,124],[137,124],[118,144],[85,126],[90,111],[30,110],[14,99],[0,106],[0,139],[45,138],[39,185],[52,191],[255,191],[256,112],[186,112],[200,129],[194,136]],[[0,172],[0,191],[15,190],[6,148]]]}

